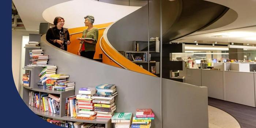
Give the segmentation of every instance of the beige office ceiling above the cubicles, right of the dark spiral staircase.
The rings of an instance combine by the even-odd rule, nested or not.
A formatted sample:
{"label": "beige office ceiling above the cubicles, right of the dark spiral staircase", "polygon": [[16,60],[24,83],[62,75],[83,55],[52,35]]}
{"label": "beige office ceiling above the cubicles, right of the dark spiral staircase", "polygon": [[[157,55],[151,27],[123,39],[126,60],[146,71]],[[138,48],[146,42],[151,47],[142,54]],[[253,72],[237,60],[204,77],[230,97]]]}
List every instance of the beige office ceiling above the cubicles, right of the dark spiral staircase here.
{"label": "beige office ceiling above the cubicles, right of the dark spiral staircase", "polygon": [[[191,42],[198,40],[199,44],[211,44],[212,42],[230,42],[256,44],[256,0],[207,0],[224,5],[236,11],[238,16],[234,22],[217,29],[202,30],[186,37],[177,39],[180,42]],[[199,19],[200,20],[200,19]],[[228,19],[227,19],[228,20]],[[226,35],[224,37],[214,37]],[[208,42],[209,41],[209,42]],[[221,44],[221,43],[220,43]]]}

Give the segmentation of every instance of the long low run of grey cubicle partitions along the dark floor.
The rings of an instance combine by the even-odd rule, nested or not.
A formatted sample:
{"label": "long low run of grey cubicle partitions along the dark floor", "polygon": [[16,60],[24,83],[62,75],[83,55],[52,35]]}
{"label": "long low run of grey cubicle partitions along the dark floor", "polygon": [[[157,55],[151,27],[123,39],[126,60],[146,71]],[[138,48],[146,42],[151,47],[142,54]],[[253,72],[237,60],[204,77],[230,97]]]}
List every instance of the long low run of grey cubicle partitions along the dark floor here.
{"label": "long low run of grey cubicle partitions along the dark floor", "polygon": [[[247,64],[242,65],[248,67]],[[225,69],[232,67],[243,70],[239,64],[223,65]],[[182,74],[185,74],[185,83],[208,87],[208,97],[256,107],[256,73],[254,72],[187,68]]]}

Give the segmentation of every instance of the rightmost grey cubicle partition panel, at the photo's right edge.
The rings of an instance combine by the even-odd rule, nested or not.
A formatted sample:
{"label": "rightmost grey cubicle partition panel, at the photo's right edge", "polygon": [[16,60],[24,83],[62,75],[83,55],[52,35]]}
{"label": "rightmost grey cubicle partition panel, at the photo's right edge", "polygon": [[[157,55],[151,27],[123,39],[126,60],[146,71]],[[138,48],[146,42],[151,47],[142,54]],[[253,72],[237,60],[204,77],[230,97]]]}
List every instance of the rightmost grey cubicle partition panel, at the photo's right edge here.
{"label": "rightmost grey cubicle partition panel, at the photo's right edge", "polygon": [[255,107],[254,73],[225,72],[226,101]]}

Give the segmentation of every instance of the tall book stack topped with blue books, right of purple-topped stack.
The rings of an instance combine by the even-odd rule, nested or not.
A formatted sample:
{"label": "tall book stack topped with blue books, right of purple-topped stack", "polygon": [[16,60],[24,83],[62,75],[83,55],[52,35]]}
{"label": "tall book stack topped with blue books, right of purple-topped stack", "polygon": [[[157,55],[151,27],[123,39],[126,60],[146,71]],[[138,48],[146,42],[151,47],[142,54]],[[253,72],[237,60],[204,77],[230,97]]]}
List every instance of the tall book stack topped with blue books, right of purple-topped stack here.
{"label": "tall book stack topped with blue books, right of purple-topped stack", "polygon": [[96,93],[93,95],[94,111],[97,118],[112,118],[116,105],[114,97],[117,95],[116,85],[100,84],[96,86]]}

